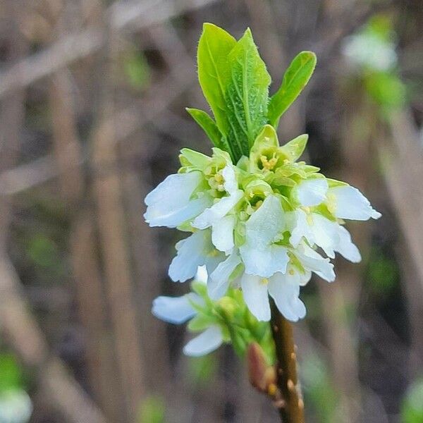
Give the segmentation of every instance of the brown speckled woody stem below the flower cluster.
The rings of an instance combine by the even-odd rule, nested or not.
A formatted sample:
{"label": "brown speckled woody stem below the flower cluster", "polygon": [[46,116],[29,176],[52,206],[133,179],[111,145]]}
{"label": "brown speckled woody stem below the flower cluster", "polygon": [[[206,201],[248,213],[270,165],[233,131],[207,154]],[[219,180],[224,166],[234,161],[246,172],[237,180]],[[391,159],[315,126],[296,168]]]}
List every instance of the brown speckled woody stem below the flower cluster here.
{"label": "brown speckled woody stem below the flower cluster", "polygon": [[282,316],[273,300],[271,303],[271,332],[276,348],[277,385],[281,400],[276,402],[282,423],[304,423],[304,402],[297,375],[297,353],[293,327]]}

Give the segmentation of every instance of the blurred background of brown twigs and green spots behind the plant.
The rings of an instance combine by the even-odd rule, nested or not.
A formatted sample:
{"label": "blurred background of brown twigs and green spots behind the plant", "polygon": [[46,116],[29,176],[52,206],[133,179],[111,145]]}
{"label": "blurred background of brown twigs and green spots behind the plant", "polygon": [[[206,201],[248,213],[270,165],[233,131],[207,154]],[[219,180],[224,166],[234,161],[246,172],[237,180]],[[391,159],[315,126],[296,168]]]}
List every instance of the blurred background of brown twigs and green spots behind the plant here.
{"label": "blurred background of brown twigs and green spots behind the plant", "polygon": [[[314,78],[281,121],[306,159],[362,190],[360,265],[302,290],[307,422],[423,422],[423,4],[420,0],[0,1],[0,423],[266,423],[231,348],[190,359],[150,312],[180,295],[177,231],[146,193],[181,147],[210,151],[202,23],[250,26],[274,80]],[[189,335],[188,335],[189,336]]]}

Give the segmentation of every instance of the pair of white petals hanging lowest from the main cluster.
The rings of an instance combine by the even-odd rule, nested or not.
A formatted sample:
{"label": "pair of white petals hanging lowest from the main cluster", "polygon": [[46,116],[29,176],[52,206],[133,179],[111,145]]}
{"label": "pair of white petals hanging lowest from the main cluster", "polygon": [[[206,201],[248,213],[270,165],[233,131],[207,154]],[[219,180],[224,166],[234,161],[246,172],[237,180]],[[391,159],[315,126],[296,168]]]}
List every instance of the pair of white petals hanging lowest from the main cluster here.
{"label": "pair of white petals hanging lowest from the main cluster", "polygon": [[241,278],[241,288],[245,303],[258,320],[270,320],[271,295],[286,319],[298,321],[305,317],[305,305],[298,298],[300,286],[305,285],[309,278],[309,272],[301,274],[295,266],[289,265],[286,274],[277,272],[270,278],[244,274]]}

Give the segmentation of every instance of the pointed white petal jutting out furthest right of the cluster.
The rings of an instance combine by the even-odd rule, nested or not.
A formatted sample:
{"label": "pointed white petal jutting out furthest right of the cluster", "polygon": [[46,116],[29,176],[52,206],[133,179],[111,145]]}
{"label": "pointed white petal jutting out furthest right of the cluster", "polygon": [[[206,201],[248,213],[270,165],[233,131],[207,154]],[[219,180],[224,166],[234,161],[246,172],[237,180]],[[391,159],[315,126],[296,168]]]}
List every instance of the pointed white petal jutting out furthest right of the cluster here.
{"label": "pointed white petal jutting out furthest right of the cluster", "polygon": [[334,214],[339,219],[364,221],[370,218],[379,219],[381,216],[357,188],[350,186],[335,187],[331,188],[329,193],[336,197]]}

